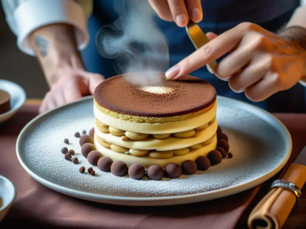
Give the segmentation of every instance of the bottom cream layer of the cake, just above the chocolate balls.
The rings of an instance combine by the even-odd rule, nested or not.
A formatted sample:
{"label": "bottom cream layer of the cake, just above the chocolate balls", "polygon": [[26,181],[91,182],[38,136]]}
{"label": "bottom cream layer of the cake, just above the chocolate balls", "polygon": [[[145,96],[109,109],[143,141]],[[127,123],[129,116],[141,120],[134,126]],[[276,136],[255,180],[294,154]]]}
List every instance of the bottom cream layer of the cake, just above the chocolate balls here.
{"label": "bottom cream layer of the cake, just above the chocolate balls", "polygon": [[217,136],[215,136],[211,144],[207,146],[203,146],[198,150],[190,151],[188,154],[185,154],[183,156],[173,156],[168,159],[155,159],[155,158],[150,158],[150,157],[135,157],[129,154],[121,154],[121,153],[114,152],[100,145],[96,139],[96,134],[94,136],[94,144],[95,144],[97,151],[101,152],[103,156],[111,158],[113,161],[124,161],[128,166],[131,166],[134,163],[140,163],[141,165],[144,166],[144,168],[148,168],[150,165],[160,165],[162,168],[165,168],[165,166],[169,163],[177,163],[178,165],[181,165],[186,160],[195,161],[200,156],[207,156],[207,154],[211,150],[214,150],[216,148]]}

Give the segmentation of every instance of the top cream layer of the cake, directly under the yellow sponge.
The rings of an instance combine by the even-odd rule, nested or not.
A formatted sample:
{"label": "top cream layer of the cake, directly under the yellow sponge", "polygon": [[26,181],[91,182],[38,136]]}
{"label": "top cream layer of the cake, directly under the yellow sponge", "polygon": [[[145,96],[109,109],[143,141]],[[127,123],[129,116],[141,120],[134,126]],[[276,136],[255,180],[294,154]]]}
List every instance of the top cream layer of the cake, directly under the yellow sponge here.
{"label": "top cream layer of the cake, directly under the yellow sponge", "polygon": [[130,131],[134,133],[144,134],[165,134],[165,133],[177,133],[190,129],[194,129],[200,125],[208,123],[215,118],[217,113],[217,103],[206,113],[199,115],[195,118],[190,118],[184,121],[178,122],[165,122],[165,123],[138,123],[119,118],[108,116],[101,112],[96,105],[94,105],[95,117],[102,123],[109,125],[113,128]]}

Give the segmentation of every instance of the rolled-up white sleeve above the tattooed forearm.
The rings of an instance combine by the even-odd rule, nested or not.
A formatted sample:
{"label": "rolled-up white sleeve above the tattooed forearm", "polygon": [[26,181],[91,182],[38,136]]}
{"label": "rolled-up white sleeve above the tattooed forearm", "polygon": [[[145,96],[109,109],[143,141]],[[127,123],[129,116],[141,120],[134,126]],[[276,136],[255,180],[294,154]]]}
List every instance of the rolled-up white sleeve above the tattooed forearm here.
{"label": "rolled-up white sleeve above the tattooed forearm", "polygon": [[37,28],[54,23],[73,25],[78,49],[88,42],[87,20],[92,13],[92,0],[1,0],[6,21],[17,36],[18,48],[35,56],[29,35]]}

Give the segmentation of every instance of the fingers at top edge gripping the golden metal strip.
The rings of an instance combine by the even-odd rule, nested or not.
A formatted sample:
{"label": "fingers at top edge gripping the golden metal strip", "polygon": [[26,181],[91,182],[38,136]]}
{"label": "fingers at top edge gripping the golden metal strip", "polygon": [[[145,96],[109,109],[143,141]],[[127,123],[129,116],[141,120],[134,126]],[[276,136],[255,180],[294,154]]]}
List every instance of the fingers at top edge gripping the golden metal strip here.
{"label": "fingers at top edge gripping the golden metal strip", "polygon": [[157,15],[165,21],[174,21],[185,27],[189,18],[200,22],[203,18],[201,0],[148,0]]}

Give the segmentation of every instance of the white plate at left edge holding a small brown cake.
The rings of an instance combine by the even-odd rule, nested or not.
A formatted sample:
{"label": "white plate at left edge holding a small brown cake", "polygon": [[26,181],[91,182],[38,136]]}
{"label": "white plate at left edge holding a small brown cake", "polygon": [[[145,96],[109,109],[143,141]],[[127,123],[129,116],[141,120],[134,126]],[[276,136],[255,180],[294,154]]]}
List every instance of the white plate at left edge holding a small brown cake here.
{"label": "white plate at left edge holding a small brown cake", "polygon": [[24,104],[27,96],[21,86],[8,80],[0,79],[0,89],[8,92],[11,96],[11,110],[0,115],[0,123],[2,123],[15,115]]}

